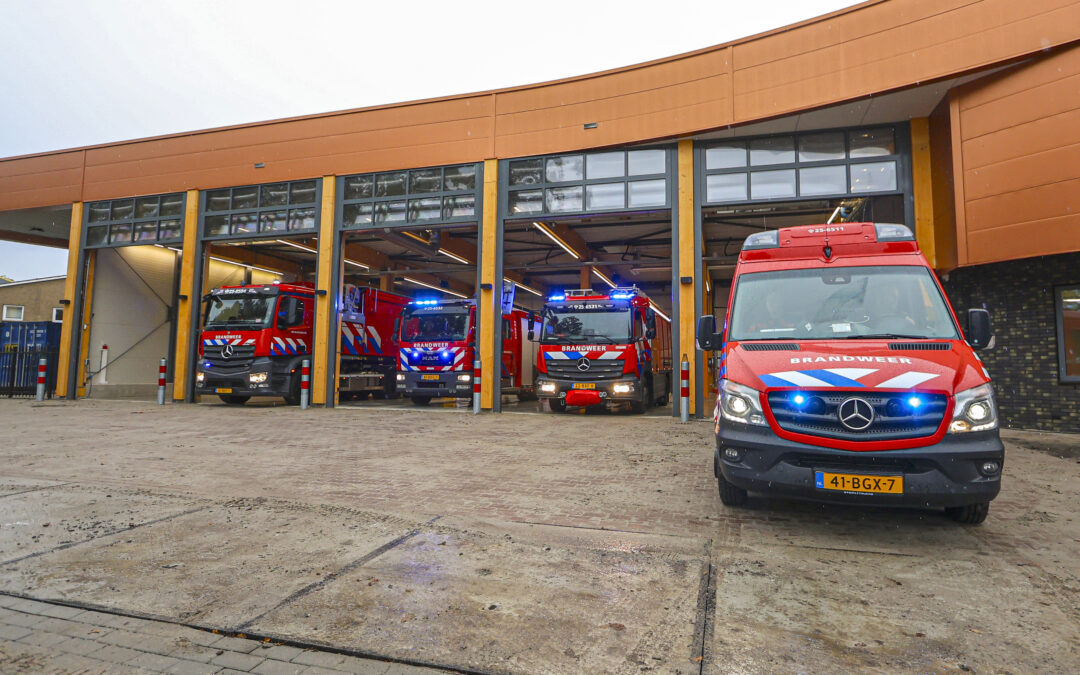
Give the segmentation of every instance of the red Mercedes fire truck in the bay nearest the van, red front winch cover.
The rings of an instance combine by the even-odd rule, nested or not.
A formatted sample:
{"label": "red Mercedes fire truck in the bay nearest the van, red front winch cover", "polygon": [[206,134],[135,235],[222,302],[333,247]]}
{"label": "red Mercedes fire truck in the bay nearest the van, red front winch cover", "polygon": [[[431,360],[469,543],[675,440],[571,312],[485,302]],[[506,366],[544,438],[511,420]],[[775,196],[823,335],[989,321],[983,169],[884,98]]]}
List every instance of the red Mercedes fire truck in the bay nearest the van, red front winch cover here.
{"label": "red Mercedes fire truck in the bay nearest the van, red front winch cover", "polygon": [[537,387],[553,411],[627,403],[634,413],[671,395],[672,328],[636,286],[548,298]]}

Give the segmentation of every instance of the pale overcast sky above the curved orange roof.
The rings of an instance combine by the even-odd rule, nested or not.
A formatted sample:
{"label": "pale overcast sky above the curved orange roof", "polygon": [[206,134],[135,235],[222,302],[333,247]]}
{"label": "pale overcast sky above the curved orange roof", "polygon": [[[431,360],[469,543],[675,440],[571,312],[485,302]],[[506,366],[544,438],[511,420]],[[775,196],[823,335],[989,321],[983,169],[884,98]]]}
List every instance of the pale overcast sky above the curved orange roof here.
{"label": "pale overcast sky above the curved orange roof", "polygon": [[[0,0],[0,157],[512,86],[855,4]],[[0,242],[0,274],[66,256]]]}

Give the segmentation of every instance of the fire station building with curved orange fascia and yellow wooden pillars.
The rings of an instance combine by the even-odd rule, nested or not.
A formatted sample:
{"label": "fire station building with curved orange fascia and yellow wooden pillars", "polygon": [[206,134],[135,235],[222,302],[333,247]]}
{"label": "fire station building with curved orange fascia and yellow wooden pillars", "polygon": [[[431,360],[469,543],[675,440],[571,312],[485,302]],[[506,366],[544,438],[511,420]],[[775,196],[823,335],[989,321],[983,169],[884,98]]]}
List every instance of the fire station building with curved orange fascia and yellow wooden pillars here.
{"label": "fire station building with curved orange fascia and yellow wooden pillars", "polygon": [[1080,2],[870,0],[583,77],[0,159],[0,238],[68,251],[71,399],[147,393],[167,356],[193,402],[202,296],[282,280],[315,287],[315,405],[351,283],[475,298],[499,410],[505,288],[633,285],[707,417],[694,324],[741,242],[831,217],[906,224],[957,313],[990,311],[1007,427],[1080,430]]}

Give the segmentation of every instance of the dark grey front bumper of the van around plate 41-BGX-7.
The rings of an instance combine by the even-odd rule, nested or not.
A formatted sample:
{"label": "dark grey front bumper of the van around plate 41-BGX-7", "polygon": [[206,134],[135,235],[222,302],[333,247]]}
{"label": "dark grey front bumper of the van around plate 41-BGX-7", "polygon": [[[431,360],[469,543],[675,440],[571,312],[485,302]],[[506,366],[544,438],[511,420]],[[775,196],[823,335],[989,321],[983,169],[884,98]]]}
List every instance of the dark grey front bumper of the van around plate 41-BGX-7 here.
{"label": "dark grey front bumper of the van around plate 41-BGX-7", "polygon": [[[724,477],[745,490],[836,503],[902,507],[963,507],[989,501],[1001,489],[1001,469],[985,476],[988,460],[1004,467],[1004,446],[997,430],[946,434],[941,443],[919,448],[858,453],[785,441],[765,427],[721,424],[716,435],[717,467]],[[724,448],[738,448],[731,461]],[[902,495],[843,492],[815,486],[815,473],[903,475]]]}

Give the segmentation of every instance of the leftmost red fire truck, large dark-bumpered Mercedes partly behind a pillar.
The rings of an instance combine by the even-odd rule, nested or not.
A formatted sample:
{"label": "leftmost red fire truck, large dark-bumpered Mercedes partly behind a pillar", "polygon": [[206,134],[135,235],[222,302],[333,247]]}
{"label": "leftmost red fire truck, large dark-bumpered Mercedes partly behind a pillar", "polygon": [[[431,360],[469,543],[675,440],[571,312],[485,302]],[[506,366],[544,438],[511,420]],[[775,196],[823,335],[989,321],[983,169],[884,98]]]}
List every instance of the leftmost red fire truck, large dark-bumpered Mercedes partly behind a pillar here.
{"label": "leftmost red fire truck, large dark-bumpered Mercedes partly behind a pillar", "polygon": [[[252,396],[300,401],[300,362],[314,342],[310,284],[226,286],[204,297],[195,393],[229,404]],[[341,312],[341,388],[392,395],[394,326],[408,302],[393,293],[346,286]]]}

